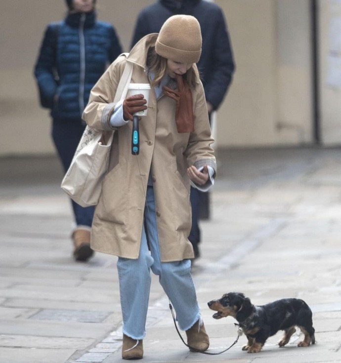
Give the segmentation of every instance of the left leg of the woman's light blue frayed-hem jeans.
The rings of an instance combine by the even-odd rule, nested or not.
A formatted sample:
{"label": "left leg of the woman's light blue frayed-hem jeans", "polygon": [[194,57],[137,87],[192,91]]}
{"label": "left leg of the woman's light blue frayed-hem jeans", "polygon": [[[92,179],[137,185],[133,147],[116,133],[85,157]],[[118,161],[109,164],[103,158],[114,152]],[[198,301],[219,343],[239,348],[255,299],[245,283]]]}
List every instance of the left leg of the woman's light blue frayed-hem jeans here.
{"label": "left leg of the woman's light blue frayed-hem jeans", "polygon": [[148,250],[143,227],[138,259],[120,257],[117,262],[123,333],[136,340],[143,339],[146,332],[145,326],[151,283],[150,266],[152,264],[153,258]]}

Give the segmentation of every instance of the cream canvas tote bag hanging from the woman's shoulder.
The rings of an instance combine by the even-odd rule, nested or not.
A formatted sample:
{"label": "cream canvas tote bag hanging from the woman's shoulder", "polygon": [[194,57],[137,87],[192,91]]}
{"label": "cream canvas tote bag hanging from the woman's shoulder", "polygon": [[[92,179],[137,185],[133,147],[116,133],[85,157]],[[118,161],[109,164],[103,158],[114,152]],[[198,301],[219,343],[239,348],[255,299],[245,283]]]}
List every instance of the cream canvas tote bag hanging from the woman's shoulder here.
{"label": "cream canvas tote bag hanging from the woman's shoulder", "polygon": [[[128,53],[124,54],[128,55]],[[132,68],[133,65],[127,62],[117,86],[114,102],[126,97]],[[109,140],[103,145],[106,135],[109,135]],[[102,191],[102,181],[108,171],[113,136],[114,130],[101,131],[86,126],[71,165],[63,178],[61,188],[82,207],[98,203]]]}

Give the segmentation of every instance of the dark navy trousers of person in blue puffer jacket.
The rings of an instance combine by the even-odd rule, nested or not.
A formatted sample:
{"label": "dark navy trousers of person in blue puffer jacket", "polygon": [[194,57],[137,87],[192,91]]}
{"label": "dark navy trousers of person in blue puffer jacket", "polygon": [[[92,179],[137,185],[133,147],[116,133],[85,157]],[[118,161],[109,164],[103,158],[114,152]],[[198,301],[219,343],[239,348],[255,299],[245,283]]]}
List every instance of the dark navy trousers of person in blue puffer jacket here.
{"label": "dark navy trousers of person in blue puffer jacket", "polygon": [[[53,120],[52,122],[52,139],[65,172],[71,164],[84,129],[85,125],[82,120]],[[91,227],[95,207],[90,206],[84,208],[74,201],[71,202],[77,226]]]}

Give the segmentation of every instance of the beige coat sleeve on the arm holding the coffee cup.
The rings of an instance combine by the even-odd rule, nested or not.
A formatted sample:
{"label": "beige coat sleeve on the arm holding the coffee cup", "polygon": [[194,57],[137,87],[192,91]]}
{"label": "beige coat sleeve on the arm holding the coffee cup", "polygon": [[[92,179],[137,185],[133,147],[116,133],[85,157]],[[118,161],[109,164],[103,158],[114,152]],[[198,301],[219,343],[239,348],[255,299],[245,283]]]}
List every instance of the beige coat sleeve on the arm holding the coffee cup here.
{"label": "beige coat sleeve on the arm holding the coffee cup", "polygon": [[82,117],[90,127],[105,131],[115,129],[110,125],[110,117],[116,106],[114,97],[125,65],[126,57],[118,57],[92,87]]}

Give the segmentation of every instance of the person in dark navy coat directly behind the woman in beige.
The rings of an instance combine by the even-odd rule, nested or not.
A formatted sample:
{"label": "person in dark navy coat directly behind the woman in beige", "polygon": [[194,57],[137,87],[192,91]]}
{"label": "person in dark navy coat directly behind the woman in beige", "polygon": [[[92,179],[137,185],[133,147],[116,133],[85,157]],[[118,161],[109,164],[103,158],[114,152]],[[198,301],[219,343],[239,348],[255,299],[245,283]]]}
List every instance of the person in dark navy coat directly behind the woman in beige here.
{"label": "person in dark navy coat directly behind the woman in beige", "polygon": [[[203,44],[197,66],[211,122],[211,114],[224,99],[235,68],[224,15],[218,5],[206,0],[158,0],[138,14],[131,47],[145,35],[159,33],[165,20],[175,14],[192,15],[199,21]],[[200,256],[199,214],[209,216],[208,197],[208,193],[191,188],[192,229],[188,238],[195,258]]]}

